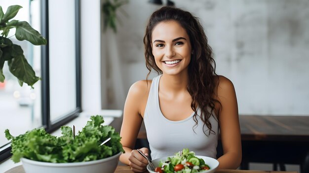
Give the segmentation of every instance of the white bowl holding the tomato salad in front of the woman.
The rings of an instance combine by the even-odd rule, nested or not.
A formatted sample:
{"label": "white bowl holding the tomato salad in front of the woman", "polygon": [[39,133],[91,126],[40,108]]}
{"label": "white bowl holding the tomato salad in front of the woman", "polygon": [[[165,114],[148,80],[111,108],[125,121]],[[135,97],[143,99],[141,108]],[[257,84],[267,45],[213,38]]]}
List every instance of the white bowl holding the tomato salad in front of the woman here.
{"label": "white bowl holding the tomato salad in front of the woman", "polygon": [[[158,159],[154,159],[152,162],[155,167],[158,167],[160,160],[162,162],[165,162],[168,157],[174,157],[174,156],[161,157]],[[214,173],[219,166],[219,162],[214,158],[206,157],[206,156],[195,156],[195,157],[203,159],[205,161],[205,164],[207,164],[210,167],[210,170],[205,170],[199,173]],[[147,170],[149,171],[149,173],[155,173],[154,171],[150,169],[149,165],[147,165]]]}

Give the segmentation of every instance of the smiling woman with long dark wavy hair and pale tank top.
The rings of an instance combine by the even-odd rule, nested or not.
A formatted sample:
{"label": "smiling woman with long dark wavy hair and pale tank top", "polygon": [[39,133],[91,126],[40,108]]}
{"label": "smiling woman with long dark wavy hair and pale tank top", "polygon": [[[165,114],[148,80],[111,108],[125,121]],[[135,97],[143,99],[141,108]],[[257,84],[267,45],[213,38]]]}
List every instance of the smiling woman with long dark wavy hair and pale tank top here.
{"label": "smiling woman with long dark wavy hair and pale tank top", "polygon": [[[234,87],[215,73],[212,49],[197,18],[162,7],[150,17],[144,44],[147,68],[161,75],[134,83],[128,92],[120,161],[134,172],[146,170],[147,160],[133,150],[144,120],[152,159],[183,148],[216,158],[220,135],[224,154],[218,158],[219,169],[236,169],[241,140]],[[141,150],[149,154],[147,148]]]}

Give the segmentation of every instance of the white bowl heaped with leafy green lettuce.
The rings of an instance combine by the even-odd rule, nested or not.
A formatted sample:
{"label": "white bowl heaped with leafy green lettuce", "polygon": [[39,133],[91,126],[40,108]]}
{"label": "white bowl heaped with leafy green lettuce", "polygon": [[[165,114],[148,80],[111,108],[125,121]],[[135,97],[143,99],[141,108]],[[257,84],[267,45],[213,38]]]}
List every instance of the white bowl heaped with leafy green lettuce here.
{"label": "white bowl heaped with leafy green lettuce", "polygon": [[48,163],[22,158],[26,173],[114,173],[122,152],[100,160],[74,163]]}

